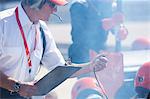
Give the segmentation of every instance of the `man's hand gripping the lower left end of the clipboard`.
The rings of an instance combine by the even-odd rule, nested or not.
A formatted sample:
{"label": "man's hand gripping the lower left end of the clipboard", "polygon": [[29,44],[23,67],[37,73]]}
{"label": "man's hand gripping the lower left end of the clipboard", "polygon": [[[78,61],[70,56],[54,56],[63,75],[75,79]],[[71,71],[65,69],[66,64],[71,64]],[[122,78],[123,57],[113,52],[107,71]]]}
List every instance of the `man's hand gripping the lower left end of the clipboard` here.
{"label": "man's hand gripping the lower left end of the clipboard", "polygon": [[33,83],[22,83],[20,84],[19,94],[24,97],[33,96],[37,87]]}

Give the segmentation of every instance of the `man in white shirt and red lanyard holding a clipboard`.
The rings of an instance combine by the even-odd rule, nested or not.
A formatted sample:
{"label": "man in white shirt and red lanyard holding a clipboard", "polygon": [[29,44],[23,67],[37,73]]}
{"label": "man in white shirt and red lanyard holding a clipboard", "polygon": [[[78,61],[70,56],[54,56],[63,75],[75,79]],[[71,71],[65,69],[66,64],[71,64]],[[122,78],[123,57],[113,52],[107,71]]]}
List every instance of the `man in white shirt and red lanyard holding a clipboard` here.
{"label": "man in white shirt and red lanyard holding a clipboard", "polygon": [[[0,98],[24,99],[34,95],[34,78],[42,63],[49,70],[65,61],[44,21],[65,0],[22,0],[14,9],[0,12]],[[44,34],[44,35],[43,35]],[[72,77],[102,70],[107,59],[97,56]],[[60,71],[61,72],[61,71]]]}

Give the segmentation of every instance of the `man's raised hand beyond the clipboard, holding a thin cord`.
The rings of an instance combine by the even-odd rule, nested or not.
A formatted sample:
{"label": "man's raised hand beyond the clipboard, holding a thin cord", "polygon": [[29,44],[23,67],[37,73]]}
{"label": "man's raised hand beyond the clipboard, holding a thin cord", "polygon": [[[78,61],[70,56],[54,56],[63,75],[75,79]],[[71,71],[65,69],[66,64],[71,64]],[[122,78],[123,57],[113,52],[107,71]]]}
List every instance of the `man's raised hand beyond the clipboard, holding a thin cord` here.
{"label": "man's raised hand beyond the clipboard, holding a thin cord", "polygon": [[108,59],[106,56],[102,54],[98,54],[92,61],[91,61],[91,69],[94,71],[101,71],[107,65]]}

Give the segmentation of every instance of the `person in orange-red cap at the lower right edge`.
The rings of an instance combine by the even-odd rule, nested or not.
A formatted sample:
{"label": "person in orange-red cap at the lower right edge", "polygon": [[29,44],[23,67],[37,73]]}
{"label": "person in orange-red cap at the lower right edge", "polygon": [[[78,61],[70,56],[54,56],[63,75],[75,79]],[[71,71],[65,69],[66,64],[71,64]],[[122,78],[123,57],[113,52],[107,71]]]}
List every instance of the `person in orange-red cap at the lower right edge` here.
{"label": "person in orange-red cap at the lower right edge", "polygon": [[150,99],[150,62],[144,63],[137,72],[134,81],[136,99]]}

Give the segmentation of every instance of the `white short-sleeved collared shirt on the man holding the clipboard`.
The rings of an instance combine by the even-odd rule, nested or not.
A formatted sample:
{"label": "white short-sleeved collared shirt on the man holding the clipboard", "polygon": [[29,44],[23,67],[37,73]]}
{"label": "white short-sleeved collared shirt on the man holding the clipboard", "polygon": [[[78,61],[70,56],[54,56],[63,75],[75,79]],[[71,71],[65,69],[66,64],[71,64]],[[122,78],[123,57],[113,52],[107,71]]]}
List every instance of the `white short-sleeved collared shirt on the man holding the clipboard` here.
{"label": "white short-sleeved collared shirt on the man holding the clipboard", "polygon": [[[64,65],[65,61],[57,49],[54,38],[48,30],[46,23],[39,21],[38,24],[32,24],[21,4],[18,6],[18,12],[31,52],[32,71],[29,74],[27,56],[20,29],[16,21],[15,8],[0,12],[0,71],[16,80],[27,82],[35,78],[40,66],[40,61],[49,70],[54,69],[58,65]],[[43,58],[43,38],[39,30],[40,26],[42,26],[46,38],[46,48]],[[37,45],[34,50],[35,28],[39,35],[37,36]]]}

